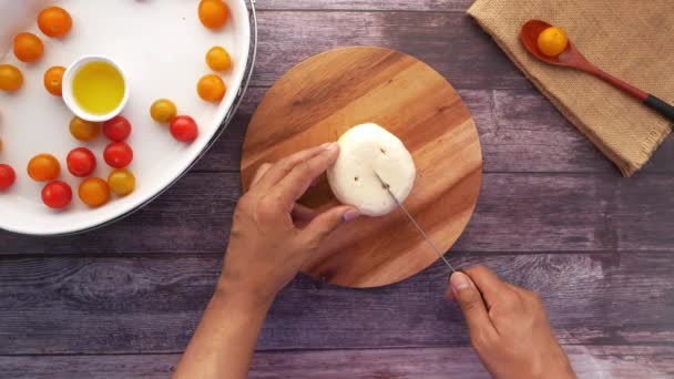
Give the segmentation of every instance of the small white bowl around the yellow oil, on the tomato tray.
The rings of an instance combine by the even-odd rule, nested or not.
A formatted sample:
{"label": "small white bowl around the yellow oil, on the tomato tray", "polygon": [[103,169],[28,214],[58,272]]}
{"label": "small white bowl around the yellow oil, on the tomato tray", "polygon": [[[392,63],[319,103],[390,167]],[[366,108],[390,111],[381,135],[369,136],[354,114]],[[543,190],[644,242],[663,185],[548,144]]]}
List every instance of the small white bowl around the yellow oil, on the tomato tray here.
{"label": "small white bowl around the yellow oil, on the tomato tray", "polygon": [[[82,106],[80,106],[80,104],[78,103],[78,101],[75,100],[75,98],[72,93],[72,83],[73,83],[73,80],[75,79],[76,73],[80,72],[80,70],[82,69],[82,66],[84,64],[92,63],[92,62],[104,62],[104,63],[112,65],[122,75],[122,80],[124,81],[124,96],[122,98],[120,105],[118,105],[118,107],[115,107],[112,112],[109,112],[105,114],[92,114],[92,113],[86,112],[85,110],[82,109]],[[129,81],[126,80],[124,70],[122,70],[122,68],[119,64],[116,64],[112,59],[110,59],[108,57],[85,55],[85,57],[78,59],[76,61],[72,62],[72,64],[70,64],[68,66],[68,69],[65,70],[65,73],[63,74],[62,83],[63,83],[62,84],[63,102],[65,102],[65,105],[68,106],[68,109],[72,113],[74,113],[78,117],[80,117],[82,120],[86,120],[86,121],[92,121],[92,122],[108,121],[108,120],[119,115],[120,113],[122,113],[122,110],[124,110],[124,106],[126,106],[126,103],[129,102],[129,93],[131,93],[131,83],[129,83]]]}

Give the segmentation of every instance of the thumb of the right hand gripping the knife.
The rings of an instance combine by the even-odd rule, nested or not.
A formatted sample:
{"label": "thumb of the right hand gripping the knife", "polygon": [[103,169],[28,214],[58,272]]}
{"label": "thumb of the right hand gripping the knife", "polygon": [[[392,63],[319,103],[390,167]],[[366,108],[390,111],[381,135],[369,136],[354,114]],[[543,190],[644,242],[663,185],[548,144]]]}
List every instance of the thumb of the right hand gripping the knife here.
{"label": "thumb of the right hand gripping the knife", "polygon": [[460,272],[452,274],[449,278],[449,287],[461,307],[471,336],[496,332],[487,313],[484,300],[468,275]]}

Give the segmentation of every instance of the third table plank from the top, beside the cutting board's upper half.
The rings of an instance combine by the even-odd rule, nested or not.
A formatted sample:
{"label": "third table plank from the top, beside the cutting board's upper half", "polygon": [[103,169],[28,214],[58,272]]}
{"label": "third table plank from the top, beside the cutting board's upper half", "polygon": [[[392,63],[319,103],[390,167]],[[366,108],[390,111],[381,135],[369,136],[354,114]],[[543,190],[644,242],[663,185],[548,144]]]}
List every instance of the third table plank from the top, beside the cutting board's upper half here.
{"label": "third table plank from the top, beside the cutting board's upper half", "polygon": [[[238,171],[246,127],[267,88],[251,88],[233,123],[195,171]],[[532,90],[460,90],[478,126],[487,173],[603,173],[617,168]],[[672,173],[674,139],[655,153],[643,174]]]}

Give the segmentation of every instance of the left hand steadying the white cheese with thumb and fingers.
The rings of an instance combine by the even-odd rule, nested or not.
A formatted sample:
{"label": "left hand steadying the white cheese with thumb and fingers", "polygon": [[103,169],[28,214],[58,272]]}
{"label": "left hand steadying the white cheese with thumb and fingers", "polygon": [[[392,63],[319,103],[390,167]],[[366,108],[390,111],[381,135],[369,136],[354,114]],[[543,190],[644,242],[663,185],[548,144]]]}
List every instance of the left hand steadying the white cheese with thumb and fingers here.
{"label": "left hand steadying the white cheese with thumb and fingers", "polygon": [[351,206],[316,214],[295,203],[338,155],[328,143],[259,167],[236,206],[218,290],[270,304],[323,239],[359,216]]}

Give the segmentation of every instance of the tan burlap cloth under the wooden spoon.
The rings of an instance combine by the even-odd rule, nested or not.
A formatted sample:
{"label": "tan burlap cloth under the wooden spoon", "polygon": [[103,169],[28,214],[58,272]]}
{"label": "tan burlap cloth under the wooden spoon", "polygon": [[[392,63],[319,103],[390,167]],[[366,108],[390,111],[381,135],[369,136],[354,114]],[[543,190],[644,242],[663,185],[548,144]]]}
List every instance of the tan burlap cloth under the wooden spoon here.
{"label": "tan burlap cloth under the wooden spoon", "polygon": [[670,134],[666,119],[601,80],[537,61],[519,31],[531,19],[561,27],[600,69],[674,103],[674,0],[477,0],[468,13],[623,175]]}

